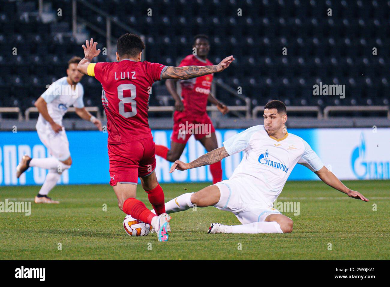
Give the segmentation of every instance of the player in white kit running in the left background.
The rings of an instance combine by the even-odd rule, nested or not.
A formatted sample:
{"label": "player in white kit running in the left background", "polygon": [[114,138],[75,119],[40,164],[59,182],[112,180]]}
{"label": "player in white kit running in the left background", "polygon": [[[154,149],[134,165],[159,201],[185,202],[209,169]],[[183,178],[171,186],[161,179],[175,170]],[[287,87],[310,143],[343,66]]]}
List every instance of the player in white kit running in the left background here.
{"label": "player in white kit running in the left background", "polygon": [[39,139],[52,157],[37,159],[24,155],[16,167],[16,176],[19,178],[30,166],[48,169],[41,190],[35,196],[35,203],[59,203],[48,197],[48,194],[57,184],[62,172],[72,165],[69,142],[65,128],[62,127],[62,117],[67,109],[73,105],[80,118],[91,121],[100,131],[102,130],[101,122],[84,107],[84,89],[79,83],[83,74],[77,70],[80,61],[80,57],[70,59],[66,70],[67,77],[60,78],[51,84],[34,104],[39,111],[35,125]]}

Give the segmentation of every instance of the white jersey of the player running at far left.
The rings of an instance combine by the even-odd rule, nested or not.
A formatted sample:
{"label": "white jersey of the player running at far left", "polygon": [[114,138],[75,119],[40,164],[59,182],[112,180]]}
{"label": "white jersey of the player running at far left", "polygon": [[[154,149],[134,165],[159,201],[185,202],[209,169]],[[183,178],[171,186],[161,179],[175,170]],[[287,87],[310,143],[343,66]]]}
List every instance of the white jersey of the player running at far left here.
{"label": "white jersey of the player running at far left", "polygon": [[[84,89],[82,84],[77,83],[72,88],[67,82],[67,77],[63,77],[51,84],[41,97],[47,103],[51,118],[59,125],[62,125],[62,117],[71,105],[79,109],[84,107],[83,95]],[[45,121],[41,114],[39,114],[39,118]]]}

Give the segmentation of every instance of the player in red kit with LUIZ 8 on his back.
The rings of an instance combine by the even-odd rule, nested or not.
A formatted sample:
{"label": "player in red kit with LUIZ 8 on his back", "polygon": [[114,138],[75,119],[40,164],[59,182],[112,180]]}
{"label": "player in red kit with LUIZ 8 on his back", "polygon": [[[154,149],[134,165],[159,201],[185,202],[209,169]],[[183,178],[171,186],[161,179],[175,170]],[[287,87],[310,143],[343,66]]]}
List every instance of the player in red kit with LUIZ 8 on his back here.
{"label": "player in red kit with LUIZ 8 on his back", "polygon": [[[83,45],[85,57],[78,71],[95,77],[103,86],[102,103],[107,116],[110,184],[124,213],[153,226],[159,241],[168,241],[170,216],[165,213],[164,193],[158,184],[154,142],[148,124],[152,84],[168,78],[190,79],[227,68],[233,56],[214,66],[171,67],[141,61],[145,48],[135,34],[124,34],[117,42],[117,62],[91,63],[99,55],[97,43]],[[138,177],[156,214],[135,199]]]}

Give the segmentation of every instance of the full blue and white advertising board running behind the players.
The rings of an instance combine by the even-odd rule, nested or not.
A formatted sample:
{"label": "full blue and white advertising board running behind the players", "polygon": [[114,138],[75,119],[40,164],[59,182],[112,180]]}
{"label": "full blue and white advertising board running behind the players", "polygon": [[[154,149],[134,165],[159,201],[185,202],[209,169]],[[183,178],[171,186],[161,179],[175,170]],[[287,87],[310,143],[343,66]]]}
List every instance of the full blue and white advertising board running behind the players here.
{"label": "full blue and white advertising board running behind the players", "polygon": [[[216,130],[218,146],[242,130]],[[390,128],[371,129],[289,129],[302,137],[321,157],[325,166],[340,179],[388,179]],[[98,131],[66,132],[73,164],[62,173],[58,184],[108,184],[107,133]],[[170,146],[172,130],[152,131],[156,144]],[[180,160],[190,162],[206,153],[191,137]],[[19,179],[16,166],[24,155],[50,157],[36,132],[0,132],[0,185],[41,185],[47,171],[30,168]],[[243,153],[222,160],[223,179],[229,178]],[[169,173],[171,162],[156,156],[159,182],[211,182],[208,166]],[[317,180],[315,173],[297,164],[289,180]]]}

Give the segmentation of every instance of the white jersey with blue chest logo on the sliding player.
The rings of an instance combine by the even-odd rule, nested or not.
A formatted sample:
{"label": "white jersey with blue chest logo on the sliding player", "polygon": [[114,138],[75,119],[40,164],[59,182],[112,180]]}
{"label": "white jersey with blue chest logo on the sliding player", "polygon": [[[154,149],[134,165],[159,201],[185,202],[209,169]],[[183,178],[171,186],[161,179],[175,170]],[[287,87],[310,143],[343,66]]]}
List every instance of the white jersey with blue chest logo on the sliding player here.
{"label": "white jersey with blue chest logo on the sliding player", "polygon": [[245,200],[259,199],[268,205],[272,205],[282,192],[297,163],[312,171],[324,166],[303,139],[288,132],[281,139],[270,137],[263,125],[230,137],[223,146],[229,155],[244,151],[243,159],[229,179],[243,183],[243,189],[249,193]]}

